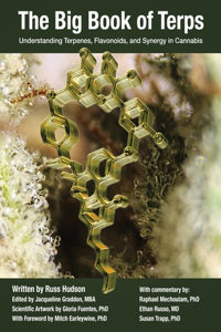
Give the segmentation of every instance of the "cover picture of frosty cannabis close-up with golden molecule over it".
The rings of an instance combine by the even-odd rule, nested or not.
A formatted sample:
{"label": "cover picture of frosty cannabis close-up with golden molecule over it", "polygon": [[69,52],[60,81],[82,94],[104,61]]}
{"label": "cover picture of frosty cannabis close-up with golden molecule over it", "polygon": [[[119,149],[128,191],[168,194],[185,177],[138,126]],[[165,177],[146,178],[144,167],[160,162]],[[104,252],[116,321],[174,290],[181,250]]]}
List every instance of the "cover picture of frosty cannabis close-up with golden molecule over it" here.
{"label": "cover picture of frosty cannabis close-up with golden molecule over it", "polygon": [[220,61],[2,53],[0,277],[220,278]]}

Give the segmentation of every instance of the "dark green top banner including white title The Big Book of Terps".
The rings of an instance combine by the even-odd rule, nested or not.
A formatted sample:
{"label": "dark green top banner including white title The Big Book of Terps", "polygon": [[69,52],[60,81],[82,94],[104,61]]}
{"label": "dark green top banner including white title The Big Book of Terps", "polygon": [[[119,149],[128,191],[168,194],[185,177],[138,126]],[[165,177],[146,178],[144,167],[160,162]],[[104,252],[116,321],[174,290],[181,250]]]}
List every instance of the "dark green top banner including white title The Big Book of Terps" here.
{"label": "dark green top banner including white title The Big Book of Terps", "polygon": [[214,1],[19,1],[1,11],[2,52],[221,52]]}

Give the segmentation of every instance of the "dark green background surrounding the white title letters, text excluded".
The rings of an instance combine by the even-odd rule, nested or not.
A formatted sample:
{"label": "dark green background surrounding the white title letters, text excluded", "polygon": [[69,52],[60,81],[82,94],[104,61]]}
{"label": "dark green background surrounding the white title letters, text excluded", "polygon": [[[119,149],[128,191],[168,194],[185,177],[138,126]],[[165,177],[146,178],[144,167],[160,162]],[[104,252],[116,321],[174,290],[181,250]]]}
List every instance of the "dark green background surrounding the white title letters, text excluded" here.
{"label": "dark green background surrounding the white title letters, text excluded", "polygon": [[[218,8],[218,1],[101,1],[97,0],[85,1],[18,1],[3,3],[3,10],[0,12],[0,29],[1,29],[1,52],[42,52],[42,53],[78,53],[78,50],[84,44],[19,44],[19,37],[23,38],[202,38],[203,44],[168,44],[166,46],[160,45],[145,45],[145,44],[93,44],[87,45],[92,52],[104,52],[106,50],[117,53],[129,52],[221,52],[220,42],[220,10]],[[27,10],[33,11],[34,14],[46,14],[50,18],[50,28],[48,30],[34,31],[34,30],[21,30],[20,15],[18,11]],[[83,31],[81,34],[73,34],[70,30],[54,30],[54,12],[56,10],[71,10],[72,15],[83,15]],[[120,14],[124,10],[126,14],[130,14],[129,20],[133,30],[105,30],[101,29],[94,31],[87,30],[87,12],[96,10],[102,14]],[[147,14],[148,11],[154,10],[154,29],[148,31],[139,31],[136,28],[136,19],[139,14]],[[183,30],[160,30],[159,19],[157,14],[158,10],[167,10],[170,14],[201,14],[204,17],[203,30],[192,30],[188,34],[183,33]]]}

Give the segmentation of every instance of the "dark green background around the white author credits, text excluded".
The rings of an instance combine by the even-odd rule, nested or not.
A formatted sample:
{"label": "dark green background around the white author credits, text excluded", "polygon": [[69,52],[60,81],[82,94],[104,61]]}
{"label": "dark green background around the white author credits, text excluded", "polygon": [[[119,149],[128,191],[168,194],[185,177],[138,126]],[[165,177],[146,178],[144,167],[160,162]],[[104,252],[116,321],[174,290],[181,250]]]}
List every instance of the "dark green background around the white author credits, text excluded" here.
{"label": "dark green background around the white author credits, text excluded", "polygon": [[[148,279],[148,280],[117,280],[116,289],[108,293],[102,293],[102,279],[0,279],[0,319],[1,326],[7,326],[9,331],[46,331],[49,328],[52,331],[60,331],[72,329],[74,331],[88,332],[91,331],[208,331],[212,329],[219,329],[220,325],[220,297],[221,297],[221,280],[220,279]],[[12,284],[18,286],[85,286],[86,293],[43,293],[43,297],[71,297],[71,295],[95,295],[96,303],[87,303],[85,305],[108,305],[108,321],[107,322],[12,322],[11,321],[11,307],[20,305],[19,303],[12,303],[12,295],[36,295],[36,293],[13,293]],[[152,305],[151,303],[139,303],[139,295],[143,297],[179,297],[178,293],[139,293],[139,287],[146,286],[149,288],[157,287],[186,287],[190,288],[189,295],[200,297],[198,303],[158,303],[157,305],[179,305],[180,322],[139,322],[139,314],[148,315],[148,313],[139,313],[139,305]],[[185,293],[180,294],[186,297]],[[23,303],[21,305],[28,305]],[[52,303],[38,303],[39,305],[50,307]],[[76,303],[66,303],[67,305],[76,305]],[[57,305],[62,305],[57,303]],[[64,303],[65,305],[65,303]],[[84,305],[84,304],[83,304]],[[25,314],[13,313],[13,314]],[[28,315],[34,315],[34,313],[27,313]],[[44,315],[45,312],[38,313]],[[53,315],[54,313],[49,313]],[[66,313],[69,314],[82,314],[90,313]],[[105,314],[105,313],[103,313]],[[157,313],[152,313],[157,314]],[[158,313],[158,315],[167,315]],[[90,329],[90,330],[88,330]],[[71,330],[70,330],[71,331]]]}

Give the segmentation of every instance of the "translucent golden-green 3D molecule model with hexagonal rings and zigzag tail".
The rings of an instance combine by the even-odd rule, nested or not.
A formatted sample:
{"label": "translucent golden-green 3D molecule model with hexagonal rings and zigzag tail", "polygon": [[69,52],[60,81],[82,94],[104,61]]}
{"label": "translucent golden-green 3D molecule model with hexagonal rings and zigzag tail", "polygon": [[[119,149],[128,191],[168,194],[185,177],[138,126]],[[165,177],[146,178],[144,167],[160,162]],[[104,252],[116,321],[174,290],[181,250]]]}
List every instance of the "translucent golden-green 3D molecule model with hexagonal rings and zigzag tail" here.
{"label": "translucent golden-green 3D molecule model with hexagonal rings and zigzag tail", "polygon": [[[108,264],[109,249],[101,241],[101,231],[113,225],[117,208],[128,205],[128,199],[120,195],[109,200],[107,187],[119,181],[124,165],[138,159],[140,138],[149,135],[160,148],[167,146],[167,139],[161,133],[154,131],[154,116],[145,104],[136,97],[123,101],[125,90],[141,83],[134,70],[116,77],[117,62],[109,52],[105,52],[101,72],[93,74],[95,58],[87,49],[82,49],[80,55],[82,63],[67,72],[66,86],[60,91],[48,92],[51,114],[41,125],[41,135],[43,142],[56,148],[59,154],[56,159],[48,160],[46,164],[54,168],[71,169],[71,173],[63,172],[62,177],[73,183],[71,195],[81,201],[80,219],[88,227],[87,243],[96,251],[95,268],[104,276],[103,292],[106,293],[115,288],[116,271]],[[112,85],[112,91],[109,95],[104,96],[102,89],[106,84]],[[127,146],[123,154],[115,157],[106,148],[99,148],[88,154],[85,170],[82,164],[71,159],[70,151],[78,141],[78,131],[76,124],[63,115],[62,108],[72,100],[86,108],[97,104],[106,113],[119,107],[119,125],[128,133]],[[138,125],[133,122],[137,117]],[[55,138],[57,128],[65,132],[60,141]],[[101,176],[99,165],[103,160],[106,160],[106,168],[105,175]],[[91,180],[95,184],[95,190],[90,196],[86,184]],[[95,212],[97,209],[98,214]]]}

